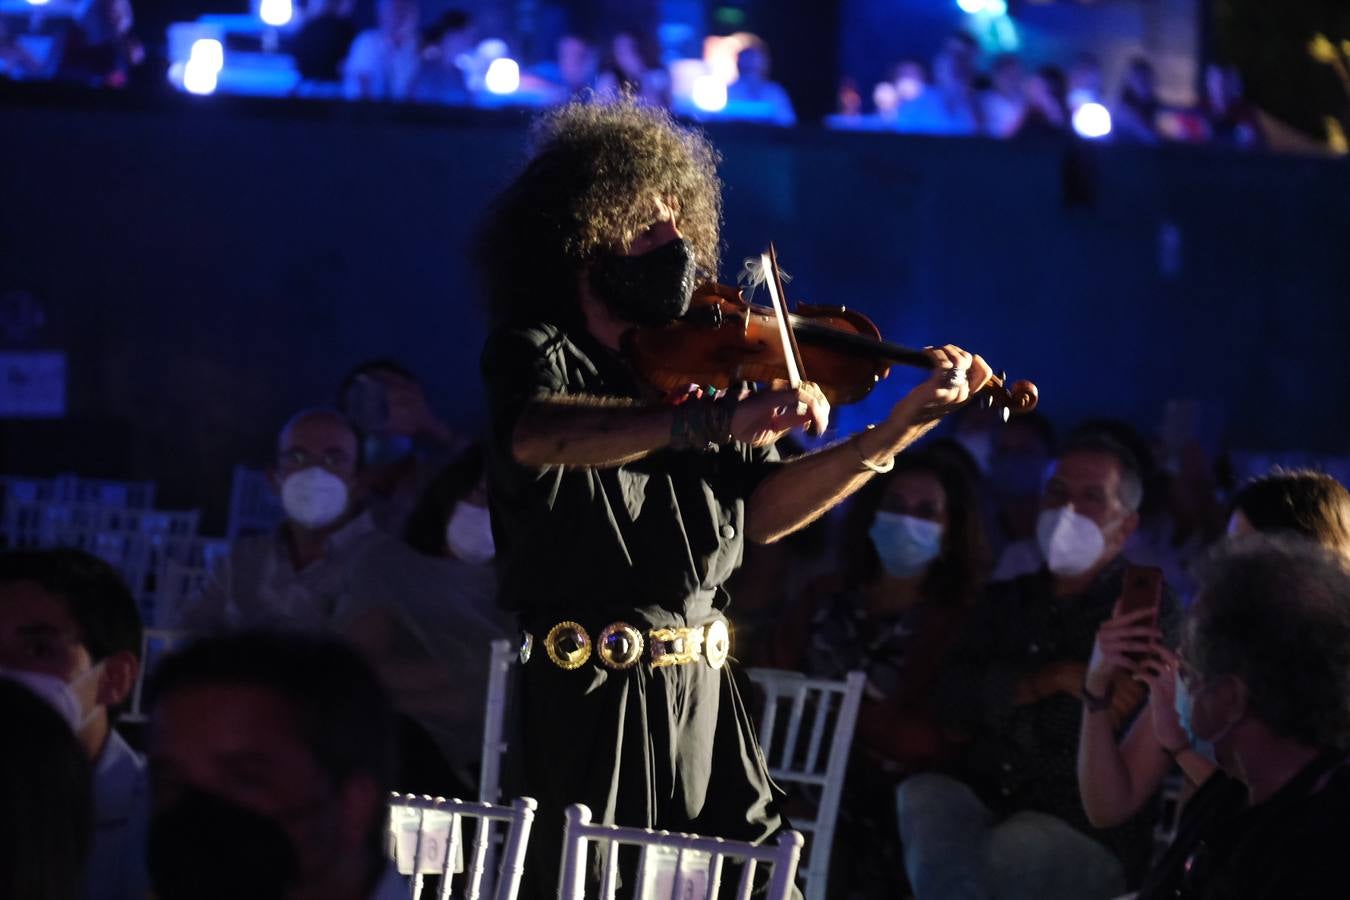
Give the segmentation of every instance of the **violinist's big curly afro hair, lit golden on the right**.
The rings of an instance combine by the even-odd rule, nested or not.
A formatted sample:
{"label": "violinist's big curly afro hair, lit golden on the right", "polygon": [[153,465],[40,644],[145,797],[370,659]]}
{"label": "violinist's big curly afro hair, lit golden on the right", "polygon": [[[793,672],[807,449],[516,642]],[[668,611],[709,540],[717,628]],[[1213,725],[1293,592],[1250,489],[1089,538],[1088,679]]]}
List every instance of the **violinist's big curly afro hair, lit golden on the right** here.
{"label": "violinist's big curly afro hair, lit golden on the right", "polygon": [[717,273],[718,154],[702,132],[632,99],[571,103],[541,115],[525,170],[493,201],[475,256],[495,324],[559,321],[578,274],[626,247],[670,204],[703,275]]}

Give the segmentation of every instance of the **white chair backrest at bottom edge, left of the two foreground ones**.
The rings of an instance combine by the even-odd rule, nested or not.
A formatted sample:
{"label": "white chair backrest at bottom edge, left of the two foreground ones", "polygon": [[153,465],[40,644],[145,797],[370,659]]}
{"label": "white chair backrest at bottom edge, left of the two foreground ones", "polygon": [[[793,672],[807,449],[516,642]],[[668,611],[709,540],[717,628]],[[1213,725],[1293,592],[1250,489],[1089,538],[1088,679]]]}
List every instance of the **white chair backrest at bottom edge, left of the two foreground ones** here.
{"label": "white chair backrest at bottom edge, left of the two foreground ones", "polygon": [[[491,884],[493,900],[514,900],[525,866],[525,849],[535,822],[535,801],[520,797],[509,807],[493,803],[396,793],[389,800],[389,857],[401,874],[412,876],[409,896],[418,900],[425,876],[440,876],[441,900],[485,896]],[[463,820],[477,823],[474,846],[463,866]],[[489,851],[497,843],[495,826],[505,826],[501,861],[489,872]],[[463,874],[455,885],[455,876]]]}

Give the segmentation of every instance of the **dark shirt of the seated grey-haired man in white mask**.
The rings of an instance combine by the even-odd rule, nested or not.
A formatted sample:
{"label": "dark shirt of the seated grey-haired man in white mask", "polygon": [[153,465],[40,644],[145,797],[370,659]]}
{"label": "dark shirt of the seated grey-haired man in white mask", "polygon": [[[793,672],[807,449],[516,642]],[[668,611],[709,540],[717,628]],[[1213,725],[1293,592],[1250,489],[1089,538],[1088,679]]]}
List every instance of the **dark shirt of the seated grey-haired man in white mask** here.
{"label": "dark shirt of the seated grey-haired man in white mask", "polygon": [[[990,586],[938,679],[936,708],[948,725],[972,735],[961,776],[986,804],[1000,815],[1035,810],[1062,819],[1110,846],[1135,881],[1148,864],[1154,804],[1115,828],[1095,828],[1079,793],[1083,704],[1066,694],[1023,706],[1013,702],[1022,676],[1058,661],[1087,664],[1096,630],[1120,596],[1125,567],[1118,557],[1075,596],[1054,596],[1044,568]],[[1165,636],[1174,622],[1176,602],[1168,592]]]}

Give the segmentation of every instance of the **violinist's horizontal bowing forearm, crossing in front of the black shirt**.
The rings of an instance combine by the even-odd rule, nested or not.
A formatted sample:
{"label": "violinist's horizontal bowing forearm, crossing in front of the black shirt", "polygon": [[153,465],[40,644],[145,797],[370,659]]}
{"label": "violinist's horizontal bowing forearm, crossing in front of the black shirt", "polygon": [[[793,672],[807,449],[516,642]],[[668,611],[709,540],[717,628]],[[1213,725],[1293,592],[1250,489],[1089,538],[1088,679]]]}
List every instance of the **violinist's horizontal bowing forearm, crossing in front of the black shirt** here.
{"label": "violinist's horizontal bowing forearm, crossing in front of the black shirt", "polygon": [[539,401],[516,424],[512,452],[535,468],[622,466],[671,443],[671,409],[582,395]]}

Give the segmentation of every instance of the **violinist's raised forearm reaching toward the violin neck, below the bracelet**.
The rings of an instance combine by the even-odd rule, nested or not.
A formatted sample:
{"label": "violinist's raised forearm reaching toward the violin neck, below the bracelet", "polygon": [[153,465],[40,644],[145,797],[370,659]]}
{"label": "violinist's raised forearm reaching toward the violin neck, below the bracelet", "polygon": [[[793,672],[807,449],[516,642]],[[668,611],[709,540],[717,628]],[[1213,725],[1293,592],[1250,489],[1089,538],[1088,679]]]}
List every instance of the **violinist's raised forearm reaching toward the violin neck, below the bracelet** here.
{"label": "violinist's raised forearm reaching toward the violin neck, below the bracelet", "polygon": [[747,503],[745,537],[772,544],[806,528],[871,480],[873,472],[863,464],[864,459],[883,466],[934,424],[887,421],[846,441],[790,460],[765,478]]}

